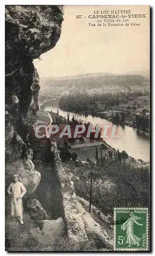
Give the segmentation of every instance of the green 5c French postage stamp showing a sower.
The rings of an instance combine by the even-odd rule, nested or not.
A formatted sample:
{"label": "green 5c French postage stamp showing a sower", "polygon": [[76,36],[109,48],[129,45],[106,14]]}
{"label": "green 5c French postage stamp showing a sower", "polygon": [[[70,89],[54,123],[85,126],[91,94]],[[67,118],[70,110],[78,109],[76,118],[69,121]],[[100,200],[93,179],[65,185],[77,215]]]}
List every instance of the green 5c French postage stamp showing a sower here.
{"label": "green 5c French postage stamp showing a sower", "polygon": [[115,208],[115,250],[148,250],[148,209]]}

